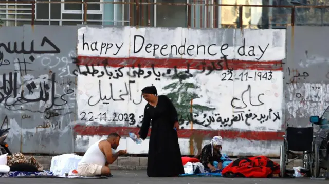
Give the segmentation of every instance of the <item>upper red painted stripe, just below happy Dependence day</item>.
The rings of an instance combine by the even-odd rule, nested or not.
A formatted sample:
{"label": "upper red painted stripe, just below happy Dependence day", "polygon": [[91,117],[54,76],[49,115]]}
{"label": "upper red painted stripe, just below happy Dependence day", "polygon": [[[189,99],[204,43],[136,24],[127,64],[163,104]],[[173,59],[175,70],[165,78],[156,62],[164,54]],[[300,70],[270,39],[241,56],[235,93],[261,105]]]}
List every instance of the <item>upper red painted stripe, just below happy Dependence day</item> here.
{"label": "upper red painted stripe, just below happy Dependence day", "polygon": [[282,61],[255,62],[247,60],[194,60],[194,59],[157,59],[157,58],[109,58],[78,56],[77,65],[103,66],[107,63],[110,67],[138,67],[141,68],[188,68],[197,70],[282,70]]}

